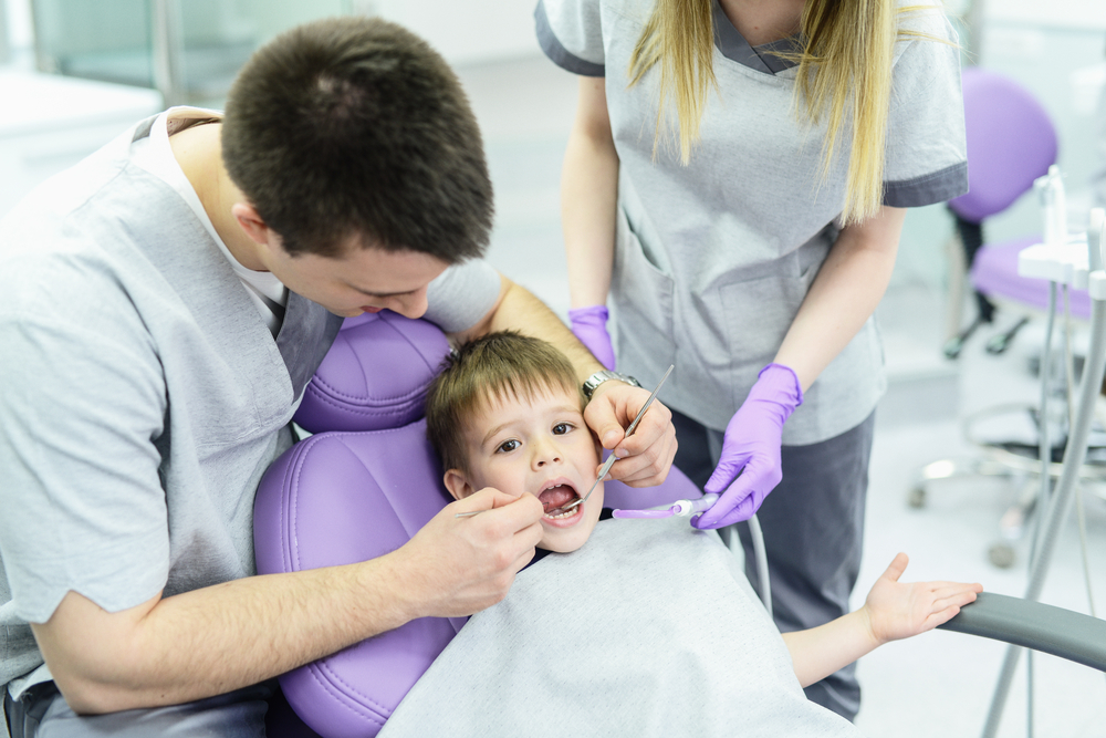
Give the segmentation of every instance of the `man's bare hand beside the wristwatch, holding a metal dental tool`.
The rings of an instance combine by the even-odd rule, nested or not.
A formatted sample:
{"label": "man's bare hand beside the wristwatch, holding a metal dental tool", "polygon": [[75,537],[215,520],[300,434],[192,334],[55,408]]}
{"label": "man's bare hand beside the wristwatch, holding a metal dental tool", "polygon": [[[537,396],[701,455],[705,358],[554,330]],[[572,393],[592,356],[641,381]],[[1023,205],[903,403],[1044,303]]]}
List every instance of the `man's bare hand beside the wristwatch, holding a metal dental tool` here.
{"label": "man's bare hand beside the wristwatch, holding a metal dental tool", "polygon": [[[660,401],[654,401],[634,429],[626,436],[626,428],[637,417],[653,394],[649,389],[611,380],[592,394],[584,408],[584,422],[599,439],[603,448],[614,450],[618,457],[611,467],[611,479],[629,487],[653,487],[668,477],[676,457],[676,428],[672,412]],[[598,467],[596,467],[598,471]]]}

